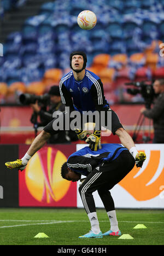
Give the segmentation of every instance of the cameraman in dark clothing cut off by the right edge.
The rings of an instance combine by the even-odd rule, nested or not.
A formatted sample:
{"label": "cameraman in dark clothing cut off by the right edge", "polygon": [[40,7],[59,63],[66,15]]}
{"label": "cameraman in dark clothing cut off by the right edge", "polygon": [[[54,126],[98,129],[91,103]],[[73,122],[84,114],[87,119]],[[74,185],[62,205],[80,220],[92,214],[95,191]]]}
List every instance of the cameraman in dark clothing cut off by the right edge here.
{"label": "cameraman in dark clothing cut off by the right edge", "polygon": [[164,143],[164,79],[155,80],[153,87],[155,94],[159,95],[155,100],[153,108],[142,108],[140,112],[145,117],[153,119],[153,143]]}

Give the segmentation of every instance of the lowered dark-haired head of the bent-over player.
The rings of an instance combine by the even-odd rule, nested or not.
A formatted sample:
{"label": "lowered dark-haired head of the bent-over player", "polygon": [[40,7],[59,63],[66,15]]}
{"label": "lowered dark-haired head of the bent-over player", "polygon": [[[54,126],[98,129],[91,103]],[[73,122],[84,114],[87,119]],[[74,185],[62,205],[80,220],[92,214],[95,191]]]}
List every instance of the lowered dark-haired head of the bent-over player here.
{"label": "lowered dark-haired head of the bent-over player", "polygon": [[81,178],[81,174],[74,172],[67,166],[67,162],[65,162],[61,167],[61,176],[63,179],[67,179],[67,181],[77,182]]}

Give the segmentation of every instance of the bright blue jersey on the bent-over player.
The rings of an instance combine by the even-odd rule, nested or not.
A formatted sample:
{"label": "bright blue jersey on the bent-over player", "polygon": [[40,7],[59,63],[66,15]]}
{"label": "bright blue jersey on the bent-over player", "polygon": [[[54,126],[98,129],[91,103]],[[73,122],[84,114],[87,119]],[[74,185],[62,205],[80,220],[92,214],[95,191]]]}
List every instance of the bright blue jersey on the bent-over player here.
{"label": "bright blue jersey on the bent-over player", "polygon": [[102,149],[92,151],[89,147],[84,147],[69,156],[67,166],[71,170],[87,176],[96,166],[104,161],[113,161],[127,150],[121,144],[102,144]]}

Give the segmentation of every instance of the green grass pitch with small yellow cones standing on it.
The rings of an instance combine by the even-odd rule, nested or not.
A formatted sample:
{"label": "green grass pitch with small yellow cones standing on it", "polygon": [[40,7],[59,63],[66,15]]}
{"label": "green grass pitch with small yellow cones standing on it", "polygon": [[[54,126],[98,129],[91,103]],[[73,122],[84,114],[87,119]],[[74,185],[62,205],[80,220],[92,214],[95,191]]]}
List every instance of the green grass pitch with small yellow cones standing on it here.
{"label": "green grass pitch with small yellow cones standing on it", "polygon": [[[122,234],[118,237],[78,238],[90,231],[83,209],[0,208],[0,245],[164,245],[164,210],[116,210]],[[97,216],[102,232],[110,224],[104,210]],[[133,229],[144,224],[147,229]],[[34,238],[44,232],[49,238]]]}

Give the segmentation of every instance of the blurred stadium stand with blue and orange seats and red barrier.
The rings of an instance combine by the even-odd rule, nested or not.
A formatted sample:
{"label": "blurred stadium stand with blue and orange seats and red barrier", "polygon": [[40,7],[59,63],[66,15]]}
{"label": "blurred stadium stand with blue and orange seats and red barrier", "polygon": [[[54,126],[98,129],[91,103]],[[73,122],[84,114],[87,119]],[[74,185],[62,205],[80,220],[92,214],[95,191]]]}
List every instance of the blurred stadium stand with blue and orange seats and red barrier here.
{"label": "blurred stadium stand with blue and orange seats and red barrier", "polygon": [[[96,14],[92,30],[78,26],[82,10]],[[125,83],[151,85],[164,77],[163,10],[164,0],[1,0],[1,143],[31,143],[32,110],[19,96],[44,95],[58,85],[77,49],[86,52],[87,69],[102,79],[110,106],[132,133],[145,99]],[[149,121],[145,130],[152,132]]]}

